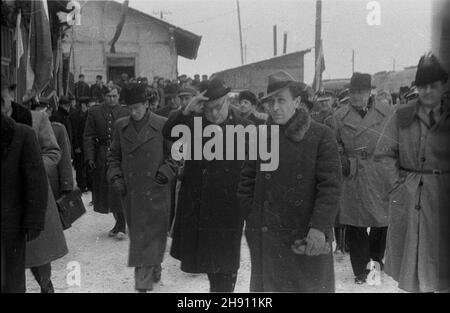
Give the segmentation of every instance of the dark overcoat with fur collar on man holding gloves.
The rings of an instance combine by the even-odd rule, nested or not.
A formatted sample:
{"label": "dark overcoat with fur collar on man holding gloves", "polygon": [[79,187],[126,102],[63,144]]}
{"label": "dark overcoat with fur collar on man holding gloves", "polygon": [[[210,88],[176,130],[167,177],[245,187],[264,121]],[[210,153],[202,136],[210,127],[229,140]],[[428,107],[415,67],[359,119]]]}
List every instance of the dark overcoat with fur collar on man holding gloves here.
{"label": "dark overcoat with fur collar on man holding gloves", "polygon": [[334,292],[332,253],[298,255],[291,245],[315,228],[331,246],[341,195],[336,139],[303,109],[280,126],[278,138],[278,168],[263,172],[259,159],[246,161],[238,187],[241,206],[248,212],[250,291]]}

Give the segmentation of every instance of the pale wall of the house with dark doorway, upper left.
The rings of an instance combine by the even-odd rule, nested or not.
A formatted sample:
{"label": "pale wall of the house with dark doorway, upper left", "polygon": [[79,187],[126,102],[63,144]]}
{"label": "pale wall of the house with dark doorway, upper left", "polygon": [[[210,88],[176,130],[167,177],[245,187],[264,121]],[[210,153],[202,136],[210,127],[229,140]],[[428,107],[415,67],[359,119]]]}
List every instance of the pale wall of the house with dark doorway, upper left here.
{"label": "pale wall of the house with dark doorway, upper left", "polygon": [[101,74],[106,80],[107,57],[135,57],[135,74],[151,80],[158,75],[177,75],[177,54],[170,41],[169,29],[144,14],[128,10],[125,25],[115,44],[116,54],[110,53],[109,42],[120,20],[121,5],[111,1],[81,2],[81,25],[73,27],[66,41],[65,52],[74,43],[75,77],[84,73],[88,82]]}

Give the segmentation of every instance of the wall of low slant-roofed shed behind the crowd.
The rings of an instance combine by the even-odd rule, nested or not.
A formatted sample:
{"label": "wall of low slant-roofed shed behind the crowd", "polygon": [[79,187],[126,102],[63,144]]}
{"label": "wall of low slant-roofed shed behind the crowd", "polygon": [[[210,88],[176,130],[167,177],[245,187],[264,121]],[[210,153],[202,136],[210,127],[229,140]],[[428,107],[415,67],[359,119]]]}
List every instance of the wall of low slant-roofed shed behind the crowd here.
{"label": "wall of low slant-roofed shed behind the crowd", "polygon": [[290,53],[266,61],[247,64],[237,68],[215,73],[233,89],[249,89],[256,95],[266,93],[268,76],[284,70],[298,81],[303,82],[304,52]]}

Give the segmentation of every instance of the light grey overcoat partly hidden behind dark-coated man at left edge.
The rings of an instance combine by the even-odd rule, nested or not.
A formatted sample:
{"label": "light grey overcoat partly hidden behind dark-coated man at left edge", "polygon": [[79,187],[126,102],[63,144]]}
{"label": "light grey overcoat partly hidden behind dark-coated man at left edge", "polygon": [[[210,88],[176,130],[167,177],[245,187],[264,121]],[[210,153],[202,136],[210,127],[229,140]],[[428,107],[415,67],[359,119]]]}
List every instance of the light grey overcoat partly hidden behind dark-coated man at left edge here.
{"label": "light grey overcoat partly hidden behind dark-coated man at left edge", "polygon": [[[32,111],[33,129],[38,137],[41,156],[47,176],[55,171],[61,159],[61,149],[56,141],[47,113]],[[47,180],[49,184],[49,180]],[[45,228],[34,240],[27,242],[25,266],[35,267],[57,260],[68,253],[55,198],[49,184]]]}

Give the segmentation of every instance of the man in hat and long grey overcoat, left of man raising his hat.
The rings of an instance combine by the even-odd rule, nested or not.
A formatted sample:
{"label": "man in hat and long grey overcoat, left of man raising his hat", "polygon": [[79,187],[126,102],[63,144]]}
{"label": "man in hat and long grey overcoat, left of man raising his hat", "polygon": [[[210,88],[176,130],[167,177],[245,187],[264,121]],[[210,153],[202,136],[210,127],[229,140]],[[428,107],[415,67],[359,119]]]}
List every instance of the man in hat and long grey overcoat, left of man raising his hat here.
{"label": "man in hat and long grey overcoat, left of man raising his hat", "polygon": [[122,196],[130,231],[128,266],[135,267],[135,287],[147,291],[161,275],[177,165],[162,136],[166,118],[148,109],[145,86],[129,84],[123,95],[131,116],[115,124],[107,154],[108,179]]}

